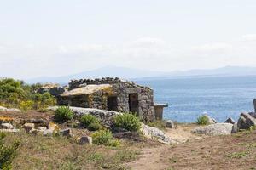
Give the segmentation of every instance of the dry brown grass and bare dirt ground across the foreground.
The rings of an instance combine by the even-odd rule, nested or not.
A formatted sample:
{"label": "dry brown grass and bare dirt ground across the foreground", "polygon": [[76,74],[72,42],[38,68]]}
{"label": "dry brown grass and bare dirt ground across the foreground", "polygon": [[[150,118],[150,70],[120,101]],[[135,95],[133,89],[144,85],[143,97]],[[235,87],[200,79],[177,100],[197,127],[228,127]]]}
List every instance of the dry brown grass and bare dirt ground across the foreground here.
{"label": "dry brown grass and bare dirt ground across the foreground", "polygon": [[[52,113],[38,111],[0,112],[17,119],[42,118]],[[229,136],[206,137],[190,133],[195,124],[179,124],[166,133],[182,144],[165,145],[150,139],[122,140],[119,148],[79,145],[74,139],[9,134],[6,140],[21,139],[14,169],[256,169],[256,131]],[[78,135],[86,129],[73,129]]]}

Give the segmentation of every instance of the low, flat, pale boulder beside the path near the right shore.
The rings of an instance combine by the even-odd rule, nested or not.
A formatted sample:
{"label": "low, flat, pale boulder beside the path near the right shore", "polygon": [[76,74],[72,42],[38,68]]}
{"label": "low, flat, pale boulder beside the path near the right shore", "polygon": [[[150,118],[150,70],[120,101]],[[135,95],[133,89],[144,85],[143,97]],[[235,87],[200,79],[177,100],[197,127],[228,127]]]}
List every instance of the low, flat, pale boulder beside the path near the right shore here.
{"label": "low, flat, pale boulder beside the path near the right shore", "polygon": [[192,133],[206,134],[210,136],[231,134],[233,125],[230,123],[215,123],[206,127],[196,127]]}

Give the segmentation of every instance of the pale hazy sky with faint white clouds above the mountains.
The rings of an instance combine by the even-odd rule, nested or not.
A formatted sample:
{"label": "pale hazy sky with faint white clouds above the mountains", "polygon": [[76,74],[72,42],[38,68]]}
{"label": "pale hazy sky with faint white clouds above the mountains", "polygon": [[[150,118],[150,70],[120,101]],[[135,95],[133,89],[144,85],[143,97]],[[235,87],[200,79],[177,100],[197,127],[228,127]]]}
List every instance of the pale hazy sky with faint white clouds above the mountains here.
{"label": "pale hazy sky with faint white clouds above the mountains", "polygon": [[0,0],[0,77],[256,66],[255,0]]}

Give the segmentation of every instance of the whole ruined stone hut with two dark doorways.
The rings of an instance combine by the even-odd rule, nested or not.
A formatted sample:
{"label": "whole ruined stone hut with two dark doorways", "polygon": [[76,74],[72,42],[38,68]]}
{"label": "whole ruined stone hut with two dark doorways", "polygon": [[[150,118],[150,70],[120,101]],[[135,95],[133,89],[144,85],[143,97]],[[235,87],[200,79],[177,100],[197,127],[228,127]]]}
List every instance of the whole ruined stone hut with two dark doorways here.
{"label": "whole ruined stone hut with two dark doorways", "polygon": [[119,78],[72,80],[68,91],[58,97],[58,104],[133,112],[144,122],[155,120],[153,90]]}

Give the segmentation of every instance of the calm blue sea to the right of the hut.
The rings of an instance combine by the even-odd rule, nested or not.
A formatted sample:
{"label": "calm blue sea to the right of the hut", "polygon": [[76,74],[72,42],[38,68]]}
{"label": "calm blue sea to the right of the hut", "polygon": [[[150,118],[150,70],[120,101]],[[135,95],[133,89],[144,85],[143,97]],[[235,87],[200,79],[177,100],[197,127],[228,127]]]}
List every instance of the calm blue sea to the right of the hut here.
{"label": "calm blue sea to the right of the hut", "polygon": [[157,103],[168,103],[164,118],[195,122],[207,112],[218,122],[228,117],[237,120],[241,112],[254,111],[256,76],[172,77],[137,80],[154,89]]}

